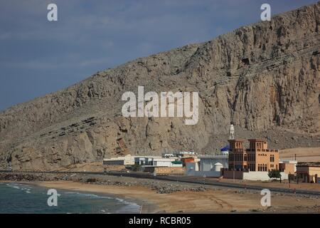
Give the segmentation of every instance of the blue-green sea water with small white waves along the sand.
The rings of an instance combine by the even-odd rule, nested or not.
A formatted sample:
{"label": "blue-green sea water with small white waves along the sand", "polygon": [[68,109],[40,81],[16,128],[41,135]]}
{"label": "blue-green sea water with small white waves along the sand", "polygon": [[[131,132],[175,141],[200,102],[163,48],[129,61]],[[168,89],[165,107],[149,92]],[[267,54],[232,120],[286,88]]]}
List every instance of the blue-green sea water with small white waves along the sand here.
{"label": "blue-green sea water with small white waves along the sand", "polygon": [[137,213],[139,205],[124,199],[86,192],[57,190],[58,206],[48,206],[48,189],[0,182],[0,213]]}

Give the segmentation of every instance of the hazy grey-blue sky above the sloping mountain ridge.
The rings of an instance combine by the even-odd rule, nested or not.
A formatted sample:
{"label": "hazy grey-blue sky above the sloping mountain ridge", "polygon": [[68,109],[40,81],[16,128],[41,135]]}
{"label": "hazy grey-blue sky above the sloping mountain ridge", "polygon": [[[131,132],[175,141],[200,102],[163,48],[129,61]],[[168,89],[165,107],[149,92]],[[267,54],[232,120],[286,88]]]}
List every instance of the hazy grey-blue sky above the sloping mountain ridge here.
{"label": "hazy grey-blue sky above the sloping mountain ridge", "polygon": [[[58,6],[48,21],[47,6]],[[0,110],[312,0],[0,0]]]}

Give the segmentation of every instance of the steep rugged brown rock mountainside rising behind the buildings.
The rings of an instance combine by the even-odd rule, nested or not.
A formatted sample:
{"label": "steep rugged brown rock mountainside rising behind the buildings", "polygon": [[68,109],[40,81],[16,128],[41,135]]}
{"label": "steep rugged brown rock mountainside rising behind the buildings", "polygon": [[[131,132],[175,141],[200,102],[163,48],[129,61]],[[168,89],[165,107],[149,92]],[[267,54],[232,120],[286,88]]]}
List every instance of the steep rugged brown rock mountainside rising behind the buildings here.
{"label": "steep rugged brown rock mountainside rising behind the buildings", "polygon": [[[103,157],[215,152],[236,138],[320,147],[320,3],[206,43],[100,71],[0,113],[0,167],[56,170]],[[122,94],[198,91],[199,120],[124,118]]]}

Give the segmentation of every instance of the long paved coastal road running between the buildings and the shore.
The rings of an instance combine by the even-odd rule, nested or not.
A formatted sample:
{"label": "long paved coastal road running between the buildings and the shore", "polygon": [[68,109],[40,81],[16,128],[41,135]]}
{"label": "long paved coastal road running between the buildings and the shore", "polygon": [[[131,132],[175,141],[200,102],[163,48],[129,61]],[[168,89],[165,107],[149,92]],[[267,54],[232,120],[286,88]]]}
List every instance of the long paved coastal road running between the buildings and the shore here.
{"label": "long paved coastal road running between the buildings and the shore", "polygon": [[[11,171],[7,170],[0,170],[0,172],[10,173]],[[294,190],[294,189],[287,189],[287,188],[279,188],[279,187],[262,187],[262,186],[255,186],[255,185],[245,185],[240,183],[230,183],[230,182],[220,182],[218,179],[208,179],[204,177],[188,177],[188,176],[167,176],[167,175],[159,175],[154,176],[149,173],[143,172],[119,172],[119,171],[109,171],[109,172],[60,172],[60,171],[46,171],[46,172],[36,172],[36,171],[14,171],[13,173],[53,173],[53,174],[81,174],[81,175],[113,175],[118,177],[136,177],[142,179],[154,179],[154,180],[166,180],[171,182],[185,182],[197,185],[210,185],[210,186],[218,186],[218,187],[230,187],[235,189],[242,189],[242,190],[258,190],[261,191],[262,189],[267,188],[271,192],[283,192],[283,193],[294,193],[299,195],[319,195],[320,191],[316,190]],[[316,185],[316,184],[315,184]]]}

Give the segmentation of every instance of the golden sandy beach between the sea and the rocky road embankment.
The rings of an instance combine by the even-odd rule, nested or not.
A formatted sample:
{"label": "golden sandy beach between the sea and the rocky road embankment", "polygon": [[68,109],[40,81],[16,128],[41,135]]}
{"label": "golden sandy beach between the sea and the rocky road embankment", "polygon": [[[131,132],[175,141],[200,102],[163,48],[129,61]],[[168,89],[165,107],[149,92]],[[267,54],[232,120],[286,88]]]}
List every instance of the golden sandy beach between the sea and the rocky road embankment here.
{"label": "golden sandy beach between the sea and the rocky road embankment", "polygon": [[262,207],[260,192],[213,190],[157,194],[147,187],[95,185],[81,182],[35,182],[41,187],[114,195],[142,203],[142,213],[228,213],[228,212],[320,212],[320,199],[298,195],[272,194],[271,207]]}

